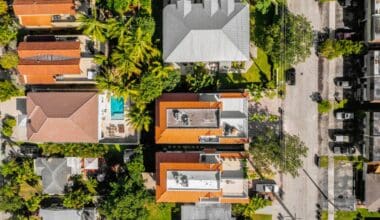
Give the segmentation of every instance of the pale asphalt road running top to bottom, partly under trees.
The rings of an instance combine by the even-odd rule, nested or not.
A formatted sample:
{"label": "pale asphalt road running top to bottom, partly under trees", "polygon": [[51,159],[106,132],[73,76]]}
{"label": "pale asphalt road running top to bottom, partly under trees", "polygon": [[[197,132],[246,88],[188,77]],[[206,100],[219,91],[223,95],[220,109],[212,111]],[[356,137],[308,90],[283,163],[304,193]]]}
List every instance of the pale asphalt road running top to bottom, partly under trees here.
{"label": "pale asphalt road running top to bottom, partly under trees", "polygon": [[[296,14],[303,14],[312,23],[314,30],[320,31],[327,24],[328,10],[320,7],[318,1],[289,0],[288,7]],[[286,132],[298,135],[309,151],[298,177],[282,177],[282,205],[274,209],[273,219],[283,216],[285,219],[309,220],[316,219],[319,188],[323,188],[318,185],[323,171],[314,164],[314,155],[320,151],[318,111],[317,104],[311,100],[310,95],[318,91],[320,71],[327,70],[320,65],[314,50],[312,55],[305,62],[296,65],[295,69],[296,85],[287,86],[283,102],[283,125]]]}

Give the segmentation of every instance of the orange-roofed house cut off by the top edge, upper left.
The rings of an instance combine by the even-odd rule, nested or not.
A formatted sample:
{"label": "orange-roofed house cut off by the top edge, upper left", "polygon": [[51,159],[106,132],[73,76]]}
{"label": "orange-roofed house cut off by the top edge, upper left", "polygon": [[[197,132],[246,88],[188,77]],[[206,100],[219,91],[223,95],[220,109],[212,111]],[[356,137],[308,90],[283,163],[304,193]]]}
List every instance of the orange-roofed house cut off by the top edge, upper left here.
{"label": "orange-roofed house cut off by the top edge, upper left", "polygon": [[13,10],[26,28],[74,28],[80,13],[91,13],[89,0],[14,0]]}

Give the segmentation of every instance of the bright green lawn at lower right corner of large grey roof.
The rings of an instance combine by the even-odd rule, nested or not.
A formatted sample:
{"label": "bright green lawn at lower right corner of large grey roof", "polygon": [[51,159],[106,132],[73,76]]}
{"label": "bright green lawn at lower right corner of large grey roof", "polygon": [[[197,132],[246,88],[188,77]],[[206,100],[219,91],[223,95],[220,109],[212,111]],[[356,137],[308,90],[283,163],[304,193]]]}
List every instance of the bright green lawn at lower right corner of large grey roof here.
{"label": "bright green lawn at lower right corner of large grey roof", "polygon": [[252,66],[246,73],[220,74],[222,84],[245,84],[252,82],[269,81],[272,77],[272,67],[268,56],[260,48],[257,49],[257,58],[253,59]]}

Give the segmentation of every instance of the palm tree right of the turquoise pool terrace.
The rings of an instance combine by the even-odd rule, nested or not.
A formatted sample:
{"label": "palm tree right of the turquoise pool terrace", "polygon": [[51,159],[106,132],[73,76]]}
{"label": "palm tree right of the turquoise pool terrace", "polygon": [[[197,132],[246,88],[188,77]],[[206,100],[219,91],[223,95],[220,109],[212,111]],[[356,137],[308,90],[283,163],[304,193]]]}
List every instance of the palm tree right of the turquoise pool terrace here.
{"label": "palm tree right of the turquoise pool terrace", "polygon": [[127,122],[137,131],[149,131],[149,125],[152,123],[152,117],[149,111],[145,110],[145,106],[132,106],[127,113]]}

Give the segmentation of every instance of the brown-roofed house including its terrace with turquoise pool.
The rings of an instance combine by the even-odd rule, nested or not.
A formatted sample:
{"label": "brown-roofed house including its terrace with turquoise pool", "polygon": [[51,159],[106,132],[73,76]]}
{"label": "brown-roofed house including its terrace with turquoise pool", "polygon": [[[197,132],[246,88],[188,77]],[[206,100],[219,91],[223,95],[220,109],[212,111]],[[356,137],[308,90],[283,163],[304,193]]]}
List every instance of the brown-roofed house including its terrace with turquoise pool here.
{"label": "brown-roofed house including its terrace with turquoise pool", "polygon": [[137,144],[129,102],[97,92],[29,92],[27,139],[54,143]]}

